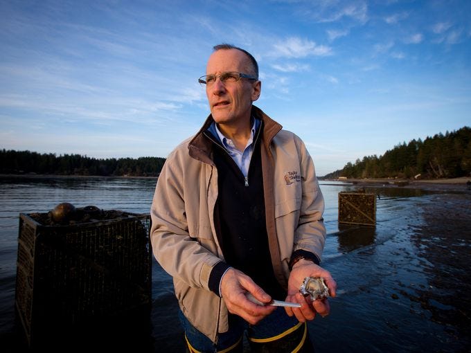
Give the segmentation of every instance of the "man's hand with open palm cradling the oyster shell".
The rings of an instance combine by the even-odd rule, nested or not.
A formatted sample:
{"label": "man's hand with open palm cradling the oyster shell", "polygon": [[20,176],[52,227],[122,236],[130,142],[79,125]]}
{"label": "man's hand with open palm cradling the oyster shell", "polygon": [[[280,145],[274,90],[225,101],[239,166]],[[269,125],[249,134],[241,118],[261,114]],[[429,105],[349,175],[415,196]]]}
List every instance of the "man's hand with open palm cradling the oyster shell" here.
{"label": "man's hand with open palm cradling the oyster shell", "polygon": [[289,316],[296,316],[301,323],[304,323],[307,320],[314,320],[316,313],[321,316],[327,316],[330,312],[330,305],[327,298],[323,300],[314,300],[313,302],[309,296],[304,297],[299,293],[299,288],[306,277],[323,278],[331,297],[335,297],[335,291],[337,289],[337,283],[332,278],[329,271],[323,269],[321,266],[317,266],[317,264],[314,264],[314,262],[309,260],[300,260],[299,262],[296,262],[290,273],[290,278],[288,279],[288,295],[286,297],[286,301],[299,302],[302,307],[285,307],[285,310]]}

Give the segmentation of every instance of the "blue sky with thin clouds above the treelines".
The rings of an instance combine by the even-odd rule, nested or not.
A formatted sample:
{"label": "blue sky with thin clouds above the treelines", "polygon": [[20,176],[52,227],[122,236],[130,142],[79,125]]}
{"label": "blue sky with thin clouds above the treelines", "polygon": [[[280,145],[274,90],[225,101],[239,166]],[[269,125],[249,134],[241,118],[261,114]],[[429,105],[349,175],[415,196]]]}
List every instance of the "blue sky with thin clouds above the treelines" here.
{"label": "blue sky with thin clouds above the treelines", "polygon": [[0,0],[0,148],[165,157],[209,113],[222,42],[319,176],[471,125],[469,0]]}

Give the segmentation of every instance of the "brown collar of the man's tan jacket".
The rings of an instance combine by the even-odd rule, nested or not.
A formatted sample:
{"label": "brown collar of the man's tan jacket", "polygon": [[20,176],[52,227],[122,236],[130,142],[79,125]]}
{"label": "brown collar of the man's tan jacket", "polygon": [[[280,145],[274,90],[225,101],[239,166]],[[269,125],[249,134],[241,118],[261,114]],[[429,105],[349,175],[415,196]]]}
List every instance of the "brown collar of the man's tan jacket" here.
{"label": "brown collar of the man's tan jacket", "polygon": [[[280,124],[276,123],[275,120],[267,116],[261,109],[256,107],[255,105],[252,105],[252,111],[251,111],[252,116],[259,118],[262,120],[262,129],[263,129],[263,134],[262,134],[262,142],[263,146],[267,150],[269,154],[269,145],[272,142],[272,139],[278,132],[283,128]],[[211,141],[209,141],[206,136],[204,136],[203,132],[205,132],[208,127],[213,123],[213,116],[211,114],[206,118],[206,121],[204,122],[203,126],[201,129],[199,129],[199,132],[193,137],[193,139],[190,141],[188,144],[188,152],[191,157],[196,159],[197,161],[201,161],[203,163],[208,163],[213,165],[213,161],[211,159]]]}

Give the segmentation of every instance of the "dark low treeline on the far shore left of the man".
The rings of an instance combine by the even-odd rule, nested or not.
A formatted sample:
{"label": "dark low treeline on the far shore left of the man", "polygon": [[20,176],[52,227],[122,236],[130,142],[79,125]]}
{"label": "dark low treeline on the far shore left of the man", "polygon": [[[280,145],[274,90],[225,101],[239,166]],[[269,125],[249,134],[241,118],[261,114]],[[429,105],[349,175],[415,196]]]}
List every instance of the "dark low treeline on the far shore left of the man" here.
{"label": "dark low treeline on the far shore left of the man", "polygon": [[155,177],[161,171],[164,162],[165,159],[159,157],[95,159],[79,154],[56,156],[30,151],[0,150],[2,174]]}

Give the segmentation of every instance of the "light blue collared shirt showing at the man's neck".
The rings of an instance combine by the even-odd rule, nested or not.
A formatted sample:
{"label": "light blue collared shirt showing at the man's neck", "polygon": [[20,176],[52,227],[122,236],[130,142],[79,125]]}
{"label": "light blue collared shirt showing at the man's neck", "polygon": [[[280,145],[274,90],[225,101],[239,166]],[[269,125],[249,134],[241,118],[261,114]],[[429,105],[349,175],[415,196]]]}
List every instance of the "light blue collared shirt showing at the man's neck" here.
{"label": "light blue collared shirt showing at the man's neck", "polygon": [[224,136],[222,132],[220,132],[220,129],[217,128],[217,124],[213,123],[211,127],[209,128],[209,131],[213,135],[214,133],[217,134],[217,137],[219,137],[227,153],[229,153],[229,156],[231,156],[233,161],[236,162],[240,171],[242,172],[242,174],[244,174],[244,177],[246,179],[247,179],[247,174],[249,174],[250,160],[252,158],[252,154],[254,153],[255,132],[257,131],[259,126],[260,126],[260,120],[254,118],[254,124],[252,125],[251,131],[250,131],[249,141],[247,141],[247,145],[245,146],[242,152],[240,152],[236,148],[236,145],[234,145],[231,139],[226,138],[226,136]]}

